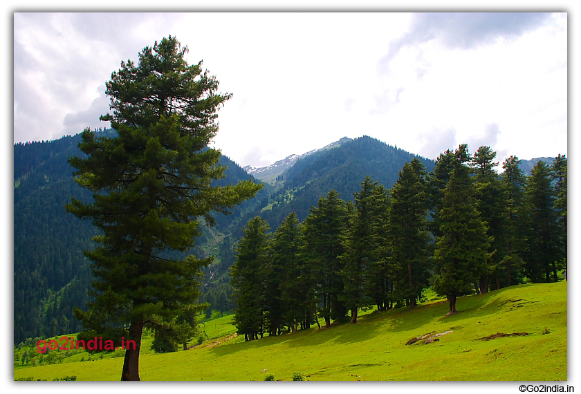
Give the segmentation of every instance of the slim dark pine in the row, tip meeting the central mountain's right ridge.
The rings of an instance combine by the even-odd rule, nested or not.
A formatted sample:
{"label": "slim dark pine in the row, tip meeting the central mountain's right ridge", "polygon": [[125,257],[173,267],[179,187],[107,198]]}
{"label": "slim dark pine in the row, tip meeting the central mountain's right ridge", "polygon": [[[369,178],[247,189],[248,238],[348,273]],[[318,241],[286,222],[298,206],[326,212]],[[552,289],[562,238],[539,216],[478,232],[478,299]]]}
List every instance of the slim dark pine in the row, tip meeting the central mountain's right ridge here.
{"label": "slim dark pine in the row, tip meeting the central mountain's right ridge", "polygon": [[389,241],[391,260],[396,270],[399,299],[406,299],[409,308],[429,286],[430,234],[427,222],[427,195],[423,164],[414,158],[399,171],[399,179],[391,189]]}

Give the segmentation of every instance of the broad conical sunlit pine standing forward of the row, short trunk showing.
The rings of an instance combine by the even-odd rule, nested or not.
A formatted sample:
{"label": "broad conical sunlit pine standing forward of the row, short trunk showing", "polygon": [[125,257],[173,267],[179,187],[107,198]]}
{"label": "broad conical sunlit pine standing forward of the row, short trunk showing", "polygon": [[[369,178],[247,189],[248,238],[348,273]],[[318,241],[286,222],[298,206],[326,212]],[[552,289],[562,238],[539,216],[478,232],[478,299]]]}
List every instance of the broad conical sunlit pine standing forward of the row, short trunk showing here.
{"label": "broad conical sunlit pine standing forward of the row, short trunk showing", "polygon": [[457,312],[457,297],[470,292],[473,283],[490,259],[490,238],[486,225],[475,207],[474,183],[466,162],[468,146],[454,152],[452,174],[444,189],[440,232],[434,260],[439,274],[434,276],[434,290],[448,297],[450,313]]}

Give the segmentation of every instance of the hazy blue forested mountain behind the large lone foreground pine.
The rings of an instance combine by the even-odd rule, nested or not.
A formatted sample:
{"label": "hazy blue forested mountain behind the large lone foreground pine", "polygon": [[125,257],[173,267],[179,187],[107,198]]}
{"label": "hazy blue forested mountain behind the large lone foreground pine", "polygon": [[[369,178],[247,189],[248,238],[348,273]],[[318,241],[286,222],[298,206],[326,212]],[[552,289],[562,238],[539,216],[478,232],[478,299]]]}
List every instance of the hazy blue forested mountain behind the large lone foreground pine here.
{"label": "hazy blue forested mountain behind the large lone foreground pine", "polygon": [[[100,135],[115,135],[102,130]],[[78,149],[80,134],[55,141],[14,146],[14,340],[79,332],[73,307],[84,308],[93,274],[83,250],[93,249],[98,234],[91,221],[66,213],[71,196],[89,203],[92,194],[77,185],[68,156],[84,156]],[[226,177],[213,185],[227,185],[252,178],[228,157],[220,158]],[[255,180],[255,182],[258,182]],[[241,227],[239,220],[256,205],[266,203],[273,188],[264,185],[257,197],[216,214],[216,225],[201,226],[203,235],[190,254],[205,257],[217,252],[224,234]],[[246,223],[244,223],[246,224]],[[177,254],[170,254],[176,256]]]}

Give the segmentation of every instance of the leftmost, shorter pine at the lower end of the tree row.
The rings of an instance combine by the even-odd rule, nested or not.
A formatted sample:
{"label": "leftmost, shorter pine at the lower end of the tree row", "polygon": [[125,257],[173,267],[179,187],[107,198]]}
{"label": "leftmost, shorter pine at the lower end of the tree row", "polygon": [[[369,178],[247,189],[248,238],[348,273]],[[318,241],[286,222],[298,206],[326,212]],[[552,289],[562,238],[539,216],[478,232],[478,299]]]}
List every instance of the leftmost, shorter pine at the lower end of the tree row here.
{"label": "leftmost, shorter pine at the lower end of the tree row", "polygon": [[258,339],[264,331],[266,272],[270,265],[268,223],[258,216],[242,228],[243,236],[236,247],[236,261],[230,267],[234,326],[247,341]]}

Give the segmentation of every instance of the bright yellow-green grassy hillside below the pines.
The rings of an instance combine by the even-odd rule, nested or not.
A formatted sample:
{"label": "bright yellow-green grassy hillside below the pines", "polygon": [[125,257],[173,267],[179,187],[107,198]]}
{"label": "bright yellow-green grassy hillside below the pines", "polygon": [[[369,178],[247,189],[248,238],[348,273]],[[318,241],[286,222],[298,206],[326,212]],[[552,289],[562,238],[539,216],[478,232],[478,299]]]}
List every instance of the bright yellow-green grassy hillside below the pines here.
{"label": "bright yellow-green grassy hillside below the pines", "polygon": [[[232,315],[205,322],[197,348],[142,354],[142,380],[566,380],[567,283],[518,285],[462,297],[457,315],[429,301],[338,324],[243,342]],[[407,345],[429,333],[445,335]],[[526,333],[526,335],[525,335]],[[504,335],[502,335],[504,334]],[[215,337],[221,335],[221,338]],[[119,380],[122,358],[15,368],[18,377]],[[524,368],[526,366],[526,368]],[[264,372],[262,372],[264,371]]]}

